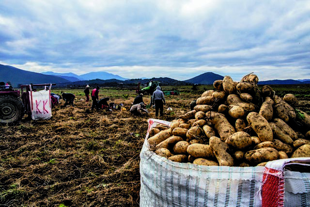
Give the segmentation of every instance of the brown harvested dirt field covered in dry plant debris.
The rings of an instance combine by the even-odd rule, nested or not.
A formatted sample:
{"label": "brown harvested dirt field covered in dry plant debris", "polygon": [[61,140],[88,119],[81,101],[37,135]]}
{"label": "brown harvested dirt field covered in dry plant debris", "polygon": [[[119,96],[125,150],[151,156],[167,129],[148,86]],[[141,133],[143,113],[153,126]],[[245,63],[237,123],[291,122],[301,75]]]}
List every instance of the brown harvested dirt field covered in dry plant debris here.
{"label": "brown harvested dirt field covered in dry plant debris", "polygon": [[[165,109],[174,111],[165,111],[161,119],[171,121],[189,111],[190,101],[204,89],[166,96]],[[110,96],[109,102],[123,103],[127,111],[90,111],[82,91],[72,91],[75,107],[53,109],[51,120],[0,126],[0,204],[139,206],[139,156],[147,119],[155,118],[155,110],[133,117],[134,92],[102,90],[101,98]],[[146,103],[149,99],[144,97]],[[309,111],[310,98],[300,100],[306,104],[302,110]]]}

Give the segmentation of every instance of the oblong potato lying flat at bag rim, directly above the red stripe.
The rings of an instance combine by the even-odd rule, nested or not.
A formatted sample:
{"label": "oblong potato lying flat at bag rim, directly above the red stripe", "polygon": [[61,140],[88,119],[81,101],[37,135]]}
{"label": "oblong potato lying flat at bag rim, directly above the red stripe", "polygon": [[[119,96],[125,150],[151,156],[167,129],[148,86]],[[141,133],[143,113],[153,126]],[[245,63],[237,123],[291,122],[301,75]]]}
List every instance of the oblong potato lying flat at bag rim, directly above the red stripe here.
{"label": "oblong potato lying flat at bag rim, directly above the red stripe", "polygon": [[244,155],[245,159],[253,164],[278,159],[279,152],[271,147],[250,150]]}

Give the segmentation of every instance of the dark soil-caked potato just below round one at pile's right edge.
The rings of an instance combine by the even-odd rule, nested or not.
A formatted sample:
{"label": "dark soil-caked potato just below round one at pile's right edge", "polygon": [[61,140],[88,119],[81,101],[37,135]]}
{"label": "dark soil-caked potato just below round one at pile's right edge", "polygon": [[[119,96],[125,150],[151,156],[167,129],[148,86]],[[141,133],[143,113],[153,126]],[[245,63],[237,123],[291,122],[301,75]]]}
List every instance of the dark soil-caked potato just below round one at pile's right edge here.
{"label": "dark soil-caked potato just below round one at pile's right edge", "polygon": [[282,119],[285,122],[288,122],[289,120],[294,120],[296,118],[296,113],[288,103],[283,101],[279,96],[275,96],[273,98],[275,104],[274,106],[274,112],[275,114]]}

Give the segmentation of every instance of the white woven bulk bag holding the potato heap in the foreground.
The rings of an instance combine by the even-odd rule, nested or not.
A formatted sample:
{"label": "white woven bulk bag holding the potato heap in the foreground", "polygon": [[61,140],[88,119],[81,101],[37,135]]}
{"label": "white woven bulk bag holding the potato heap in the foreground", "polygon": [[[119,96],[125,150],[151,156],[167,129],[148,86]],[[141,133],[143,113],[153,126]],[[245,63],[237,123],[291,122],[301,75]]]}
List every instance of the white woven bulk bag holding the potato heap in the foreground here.
{"label": "white woven bulk bag holding the potato heap in the foreground", "polygon": [[[148,122],[148,131],[159,123],[171,125],[156,119]],[[172,162],[151,152],[147,138],[148,134],[140,153],[141,207],[262,206],[264,167]],[[285,171],[284,175],[287,189],[284,191],[284,206],[310,207],[310,173]],[[294,184],[296,181],[298,185]],[[275,195],[274,198],[279,199],[278,194]]]}

